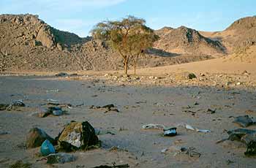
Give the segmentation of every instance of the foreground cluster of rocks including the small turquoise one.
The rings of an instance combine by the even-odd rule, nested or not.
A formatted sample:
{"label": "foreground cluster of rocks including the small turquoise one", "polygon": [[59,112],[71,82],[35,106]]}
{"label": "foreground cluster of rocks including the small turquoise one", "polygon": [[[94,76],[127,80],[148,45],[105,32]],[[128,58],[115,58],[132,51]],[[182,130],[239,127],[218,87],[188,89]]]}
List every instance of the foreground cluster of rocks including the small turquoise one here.
{"label": "foreground cluster of rocks including the small turquoise one", "polygon": [[69,152],[89,150],[99,145],[94,127],[88,121],[68,123],[55,139],[38,128],[31,129],[26,137],[26,148],[41,147],[42,156],[47,156],[48,164],[75,161],[76,157]]}

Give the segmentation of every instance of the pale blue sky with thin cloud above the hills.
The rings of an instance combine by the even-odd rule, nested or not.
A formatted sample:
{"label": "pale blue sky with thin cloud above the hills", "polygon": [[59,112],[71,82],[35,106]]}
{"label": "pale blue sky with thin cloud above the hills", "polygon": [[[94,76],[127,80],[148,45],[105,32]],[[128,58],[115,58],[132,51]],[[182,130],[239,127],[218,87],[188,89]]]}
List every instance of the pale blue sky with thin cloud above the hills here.
{"label": "pale blue sky with thin cloud above the hills", "polygon": [[146,19],[154,29],[183,25],[221,31],[238,18],[256,15],[255,7],[255,0],[0,0],[0,14],[39,15],[50,26],[80,37],[99,21],[127,15]]}

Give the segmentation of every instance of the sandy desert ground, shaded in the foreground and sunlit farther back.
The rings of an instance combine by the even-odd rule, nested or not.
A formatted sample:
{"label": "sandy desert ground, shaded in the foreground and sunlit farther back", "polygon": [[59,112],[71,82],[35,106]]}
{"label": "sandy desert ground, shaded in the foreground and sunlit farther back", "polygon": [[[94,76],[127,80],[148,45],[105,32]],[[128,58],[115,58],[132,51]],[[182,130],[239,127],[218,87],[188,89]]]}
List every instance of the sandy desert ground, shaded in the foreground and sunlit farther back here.
{"label": "sandy desert ground, shaded in the foreground and sunlit farther back", "polygon": [[[203,61],[140,69],[138,77],[128,79],[121,77],[121,72],[86,72],[78,77],[58,78],[1,76],[0,103],[23,99],[26,107],[0,111],[0,130],[9,132],[0,135],[0,167],[9,167],[18,160],[31,163],[31,167],[95,167],[113,163],[130,167],[255,167],[255,158],[244,156],[244,145],[216,144],[228,137],[227,130],[240,128],[233,123],[233,117],[246,115],[246,110],[255,111],[249,115],[256,117],[255,65],[232,66],[221,59],[214,61],[227,66]],[[244,70],[249,75],[242,75]],[[183,79],[185,72],[194,72],[197,79]],[[233,83],[227,83],[230,81]],[[67,109],[69,115],[35,117],[34,112],[44,107],[48,99],[84,105]],[[115,104],[120,112],[89,108],[105,104]],[[217,110],[211,114],[208,109]],[[45,160],[37,161],[42,159],[37,155],[39,148],[24,148],[29,129],[36,126],[56,137],[70,121],[89,121],[94,128],[114,135],[99,135],[102,148],[73,153],[78,156],[77,161],[67,164],[45,164]],[[168,127],[187,123],[211,132],[199,133],[178,126],[177,136],[163,137],[161,130],[143,130],[142,126],[148,123]],[[173,145],[195,148],[201,156],[161,153]],[[113,147],[118,150],[110,150]]]}

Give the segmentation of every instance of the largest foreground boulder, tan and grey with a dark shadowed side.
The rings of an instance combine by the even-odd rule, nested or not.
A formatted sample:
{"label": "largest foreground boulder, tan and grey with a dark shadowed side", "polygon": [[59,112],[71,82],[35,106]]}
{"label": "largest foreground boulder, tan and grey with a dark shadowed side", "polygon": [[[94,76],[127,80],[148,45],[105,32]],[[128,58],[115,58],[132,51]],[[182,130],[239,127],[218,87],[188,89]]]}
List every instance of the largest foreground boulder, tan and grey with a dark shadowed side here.
{"label": "largest foreground boulder, tan and grey with a dark shadowed side", "polygon": [[91,146],[99,145],[94,127],[88,121],[67,124],[57,139],[60,150],[67,152],[79,149],[85,150]]}

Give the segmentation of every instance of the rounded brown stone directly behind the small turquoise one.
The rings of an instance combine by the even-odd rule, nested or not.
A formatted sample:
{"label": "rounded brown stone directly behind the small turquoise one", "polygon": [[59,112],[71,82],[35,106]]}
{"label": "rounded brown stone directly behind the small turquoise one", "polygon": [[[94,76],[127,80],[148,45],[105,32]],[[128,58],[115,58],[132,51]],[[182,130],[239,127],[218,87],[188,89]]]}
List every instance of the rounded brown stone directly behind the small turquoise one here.
{"label": "rounded brown stone directly behind the small turquoise one", "polygon": [[26,136],[26,148],[37,148],[42,145],[42,142],[49,140],[53,145],[56,144],[56,140],[50,137],[42,129],[33,128]]}

